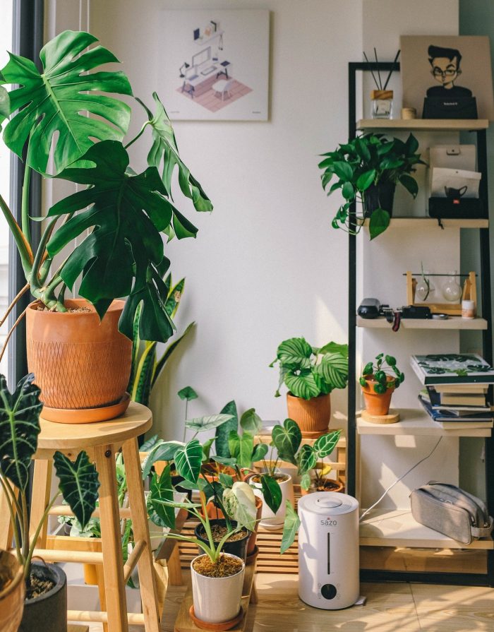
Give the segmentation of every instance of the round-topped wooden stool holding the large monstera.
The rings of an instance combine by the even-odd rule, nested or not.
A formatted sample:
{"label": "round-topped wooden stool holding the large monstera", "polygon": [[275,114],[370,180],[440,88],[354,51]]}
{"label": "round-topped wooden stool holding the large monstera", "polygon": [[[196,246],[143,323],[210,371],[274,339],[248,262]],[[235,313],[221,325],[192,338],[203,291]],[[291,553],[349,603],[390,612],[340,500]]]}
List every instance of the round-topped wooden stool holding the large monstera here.
{"label": "round-topped wooden stool holding the large monstera", "polygon": [[[99,621],[108,632],[127,632],[128,624],[143,625],[145,632],[159,632],[157,586],[150,547],[143,479],[140,469],[137,437],[152,425],[151,411],[131,403],[118,419],[95,424],[55,424],[40,419],[41,432],[35,454],[31,525],[35,527],[49,503],[52,484],[53,455],[60,451],[75,460],[85,450],[95,461],[100,478],[100,517],[102,553],[64,551],[47,548],[47,523],[38,538],[35,556],[45,561],[76,561],[102,565],[104,595],[100,591],[101,608],[106,612],[68,611],[69,621]],[[130,518],[135,547],[123,566],[120,532],[120,510],[117,498],[115,454],[122,449],[126,467]],[[128,513],[129,509],[123,510]],[[51,514],[57,513],[53,507]],[[34,534],[32,533],[31,536]],[[0,546],[8,534],[0,532]],[[6,540],[8,542],[8,539]],[[125,585],[135,565],[138,566],[143,614],[128,614]],[[106,625],[107,624],[107,625]]]}

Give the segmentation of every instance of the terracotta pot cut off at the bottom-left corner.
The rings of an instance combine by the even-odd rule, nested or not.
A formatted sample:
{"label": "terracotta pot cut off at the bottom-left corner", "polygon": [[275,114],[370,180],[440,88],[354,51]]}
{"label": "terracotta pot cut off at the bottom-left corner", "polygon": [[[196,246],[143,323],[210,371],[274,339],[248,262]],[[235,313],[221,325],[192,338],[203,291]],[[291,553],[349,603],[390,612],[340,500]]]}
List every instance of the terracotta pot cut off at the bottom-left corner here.
{"label": "terracotta pot cut off at the bottom-left corner", "polygon": [[17,632],[23,618],[25,583],[24,569],[16,557],[7,551],[0,551],[0,571],[6,573],[10,583],[0,590],[0,630]]}

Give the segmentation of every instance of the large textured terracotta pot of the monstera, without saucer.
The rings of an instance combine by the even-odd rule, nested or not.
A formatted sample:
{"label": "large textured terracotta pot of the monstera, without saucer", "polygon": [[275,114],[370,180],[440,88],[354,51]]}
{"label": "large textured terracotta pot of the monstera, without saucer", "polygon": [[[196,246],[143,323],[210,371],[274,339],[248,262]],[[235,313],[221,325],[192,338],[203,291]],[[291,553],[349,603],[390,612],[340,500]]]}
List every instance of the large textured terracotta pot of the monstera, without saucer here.
{"label": "large textured terracotta pot of the monstera, without saucer", "polygon": [[85,299],[67,307],[90,312],[26,312],[28,369],[35,374],[47,408],[90,409],[123,398],[131,374],[132,342],[118,330],[123,301],[114,301],[102,321]]}

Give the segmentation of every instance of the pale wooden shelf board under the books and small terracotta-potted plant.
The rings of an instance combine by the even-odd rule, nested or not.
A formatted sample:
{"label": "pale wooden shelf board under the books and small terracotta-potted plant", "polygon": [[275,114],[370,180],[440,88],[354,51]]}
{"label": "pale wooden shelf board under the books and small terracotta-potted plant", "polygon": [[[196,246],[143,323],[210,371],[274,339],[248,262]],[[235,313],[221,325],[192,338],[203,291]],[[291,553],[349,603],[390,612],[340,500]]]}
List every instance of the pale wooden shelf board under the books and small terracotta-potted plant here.
{"label": "pale wooden shelf board under the books and small terracotta-potted plant", "polygon": [[373,424],[357,416],[358,434],[387,434],[415,436],[490,436],[492,428],[445,430],[435,424],[425,410],[399,408],[400,421],[396,424]]}

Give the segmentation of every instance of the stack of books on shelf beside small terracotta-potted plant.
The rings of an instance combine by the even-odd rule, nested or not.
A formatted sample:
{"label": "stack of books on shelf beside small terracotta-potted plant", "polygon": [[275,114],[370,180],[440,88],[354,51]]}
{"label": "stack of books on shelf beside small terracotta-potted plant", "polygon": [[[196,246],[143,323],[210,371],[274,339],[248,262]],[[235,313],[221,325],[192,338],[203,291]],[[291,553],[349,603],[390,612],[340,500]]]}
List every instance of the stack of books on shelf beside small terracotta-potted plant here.
{"label": "stack of books on shelf beside small terracotta-potted plant", "polygon": [[440,427],[493,427],[488,387],[494,383],[494,371],[483,358],[458,353],[416,355],[411,366],[426,386],[418,400]]}

